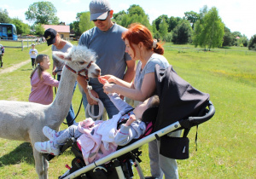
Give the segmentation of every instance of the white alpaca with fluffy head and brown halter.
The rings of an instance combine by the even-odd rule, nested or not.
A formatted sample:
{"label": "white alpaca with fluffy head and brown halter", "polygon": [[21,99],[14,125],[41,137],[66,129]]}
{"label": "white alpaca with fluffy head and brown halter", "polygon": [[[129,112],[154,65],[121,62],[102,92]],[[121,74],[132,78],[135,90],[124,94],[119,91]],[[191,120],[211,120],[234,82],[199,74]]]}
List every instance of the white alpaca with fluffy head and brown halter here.
{"label": "white alpaca with fluffy head and brown halter", "polygon": [[53,130],[59,130],[67,116],[78,74],[88,71],[89,78],[96,78],[101,72],[95,63],[95,53],[86,47],[74,46],[66,54],[54,52],[53,55],[58,60],[67,61],[67,66],[63,68],[58,92],[51,104],[0,101],[0,137],[31,142],[39,178],[48,178],[48,161],[33,147],[36,141],[48,140],[43,134],[43,127],[46,125]]}

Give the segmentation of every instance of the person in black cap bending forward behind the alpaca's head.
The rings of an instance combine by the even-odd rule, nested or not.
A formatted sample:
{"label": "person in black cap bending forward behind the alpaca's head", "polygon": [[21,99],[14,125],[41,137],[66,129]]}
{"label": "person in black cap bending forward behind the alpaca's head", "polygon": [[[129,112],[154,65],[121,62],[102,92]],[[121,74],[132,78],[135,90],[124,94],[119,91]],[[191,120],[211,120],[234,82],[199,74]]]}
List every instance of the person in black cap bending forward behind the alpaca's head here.
{"label": "person in black cap bending forward behind the alpaca's head", "polygon": [[[54,51],[61,51],[63,53],[66,53],[68,49],[73,47],[72,43],[67,42],[66,40],[61,39],[60,34],[55,31],[55,29],[49,28],[46,29],[44,32],[44,38],[47,41],[48,46],[51,46],[51,50]],[[53,56],[53,70],[52,74],[57,75],[57,80],[61,81],[61,72],[62,68],[65,65],[64,61],[57,61],[55,57]],[[76,89],[77,82],[75,83],[73,87],[73,91]],[[70,126],[75,123],[74,121],[75,114],[73,112],[73,106],[70,105],[69,112],[67,113],[67,125]]]}

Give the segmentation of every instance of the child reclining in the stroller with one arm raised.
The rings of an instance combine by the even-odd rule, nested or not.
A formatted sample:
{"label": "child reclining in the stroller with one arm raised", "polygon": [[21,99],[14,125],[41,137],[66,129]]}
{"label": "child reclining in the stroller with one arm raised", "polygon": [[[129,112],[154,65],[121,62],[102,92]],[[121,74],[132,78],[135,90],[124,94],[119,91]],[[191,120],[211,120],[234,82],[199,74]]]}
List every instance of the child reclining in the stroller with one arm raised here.
{"label": "child reclining in the stroller with one arm raised", "polygon": [[149,107],[158,107],[158,96],[151,96],[134,109],[122,101],[118,94],[113,93],[108,96],[119,109],[117,115],[107,121],[93,121],[91,118],[86,118],[79,124],[59,132],[44,126],[43,133],[49,141],[36,142],[35,148],[38,152],[59,155],[60,147],[74,137],[82,147],[85,164],[89,165],[113,153],[117,146],[124,146],[132,139],[142,136],[147,127],[147,123],[143,122],[143,113]]}

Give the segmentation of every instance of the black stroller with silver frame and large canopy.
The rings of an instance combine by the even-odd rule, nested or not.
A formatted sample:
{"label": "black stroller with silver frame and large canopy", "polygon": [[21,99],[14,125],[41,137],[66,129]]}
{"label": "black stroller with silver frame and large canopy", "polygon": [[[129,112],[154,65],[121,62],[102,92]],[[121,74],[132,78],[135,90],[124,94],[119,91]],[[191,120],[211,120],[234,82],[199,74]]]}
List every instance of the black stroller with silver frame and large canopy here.
{"label": "black stroller with silver frame and large canopy", "polygon": [[[160,97],[158,108],[148,108],[145,112],[148,120],[153,120],[154,130],[148,136],[120,147],[114,153],[96,160],[90,165],[84,164],[82,153],[73,139],[61,148],[61,153],[71,147],[75,158],[72,166],[59,178],[84,179],[123,179],[132,178],[132,165],[137,169],[138,176],[144,178],[139,163],[141,152],[138,147],[143,144],[160,140],[160,153],[172,159],[189,158],[189,139],[186,137],[191,127],[202,124],[212,118],[215,109],[209,101],[209,95],[195,90],[189,83],[180,78],[169,66],[167,69],[155,67],[157,95]],[[168,133],[184,130],[183,137],[169,137]],[[48,160],[51,155],[44,154]]]}

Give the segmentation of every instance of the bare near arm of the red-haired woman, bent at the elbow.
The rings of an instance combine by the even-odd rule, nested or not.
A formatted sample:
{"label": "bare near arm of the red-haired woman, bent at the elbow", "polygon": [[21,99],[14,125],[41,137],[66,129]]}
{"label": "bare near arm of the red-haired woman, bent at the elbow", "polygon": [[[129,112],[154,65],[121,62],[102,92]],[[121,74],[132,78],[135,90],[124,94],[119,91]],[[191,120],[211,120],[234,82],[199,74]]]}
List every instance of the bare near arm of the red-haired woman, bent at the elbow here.
{"label": "bare near arm of the red-haired woman, bent at the elbow", "polygon": [[[116,81],[119,81],[120,79],[117,78]],[[103,86],[105,93],[118,93],[120,95],[124,95],[125,97],[128,97],[132,100],[136,101],[145,101],[154,94],[155,90],[155,81],[154,81],[154,72],[149,72],[146,74],[143,78],[143,84],[141,89],[134,89],[133,84],[131,84],[130,88],[125,87],[120,84],[105,84]]]}

